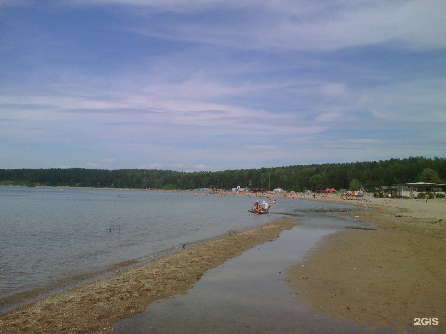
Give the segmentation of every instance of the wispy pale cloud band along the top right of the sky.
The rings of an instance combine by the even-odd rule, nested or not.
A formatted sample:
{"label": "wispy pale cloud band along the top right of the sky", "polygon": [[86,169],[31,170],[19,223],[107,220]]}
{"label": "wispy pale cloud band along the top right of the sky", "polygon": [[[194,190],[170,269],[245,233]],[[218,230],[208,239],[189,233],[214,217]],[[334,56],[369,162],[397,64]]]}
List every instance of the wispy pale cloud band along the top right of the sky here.
{"label": "wispy pale cloud band along the top right of the sky", "polygon": [[[279,52],[330,50],[400,43],[445,47],[443,1],[99,1],[138,5],[150,25],[135,31],[152,37],[237,49]],[[141,11],[140,7],[146,8]],[[183,14],[153,23],[154,12]],[[205,16],[204,14],[207,14]]]}

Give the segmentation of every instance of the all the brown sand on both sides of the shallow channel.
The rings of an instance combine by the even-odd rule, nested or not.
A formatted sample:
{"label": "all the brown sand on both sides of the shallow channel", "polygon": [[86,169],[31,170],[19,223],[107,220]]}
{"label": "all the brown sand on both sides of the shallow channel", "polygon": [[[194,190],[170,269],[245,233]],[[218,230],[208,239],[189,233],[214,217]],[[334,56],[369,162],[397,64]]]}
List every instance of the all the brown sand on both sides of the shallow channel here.
{"label": "all the brown sand on both sides of the shallow channel", "polygon": [[[281,200],[277,198],[277,200]],[[377,328],[446,330],[446,201],[372,198],[367,210],[338,196],[306,199],[357,205],[352,228],[330,234],[287,269],[297,303]],[[357,216],[355,218],[355,216]],[[355,220],[372,223],[356,229]],[[125,269],[0,316],[0,333],[111,333],[149,303],[185,293],[202,274],[299,224],[278,219]],[[438,325],[414,326],[415,318]]]}

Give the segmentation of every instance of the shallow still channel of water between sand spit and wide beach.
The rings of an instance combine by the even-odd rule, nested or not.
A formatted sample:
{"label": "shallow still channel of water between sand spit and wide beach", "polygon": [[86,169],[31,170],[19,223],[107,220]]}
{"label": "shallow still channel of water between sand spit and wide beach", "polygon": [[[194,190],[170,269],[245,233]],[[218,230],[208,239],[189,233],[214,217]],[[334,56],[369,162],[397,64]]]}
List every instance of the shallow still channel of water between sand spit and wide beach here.
{"label": "shallow still channel of water between sand spit and wide beach", "polygon": [[[206,271],[186,295],[161,299],[115,324],[115,334],[136,333],[394,333],[338,322],[298,304],[282,278],[327,229],[295,227]],[[303,292],[302,292],[303,293]]]}

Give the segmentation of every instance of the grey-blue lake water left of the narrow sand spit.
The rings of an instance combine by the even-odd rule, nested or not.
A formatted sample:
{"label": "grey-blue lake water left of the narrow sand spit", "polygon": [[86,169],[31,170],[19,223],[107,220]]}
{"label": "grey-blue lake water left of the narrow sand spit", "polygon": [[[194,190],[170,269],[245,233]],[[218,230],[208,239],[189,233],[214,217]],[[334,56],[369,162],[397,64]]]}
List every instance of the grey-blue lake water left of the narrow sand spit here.
{"label": "grey-blue lake water left of the narrow sand spit", "polygon": [[182,194],[0,187],[0,311],[21,298],[129,261],[149,261],[231,228],[244,230],[285,215],[312,217],[305,226],[314,231],[349,224],[335,217],[317,219],[346,209],[339,204],[279,199],[272,214],[256,215],[248,212],[252,196]]}

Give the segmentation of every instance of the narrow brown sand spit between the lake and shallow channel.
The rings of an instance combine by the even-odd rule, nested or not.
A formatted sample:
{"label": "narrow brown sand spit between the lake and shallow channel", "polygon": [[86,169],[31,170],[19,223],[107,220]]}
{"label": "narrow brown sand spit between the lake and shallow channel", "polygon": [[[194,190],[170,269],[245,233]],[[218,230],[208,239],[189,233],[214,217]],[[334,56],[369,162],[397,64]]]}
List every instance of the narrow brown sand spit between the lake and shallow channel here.
{"label": "narrow brown sand spit between the lake and shallow channel", "polygon": [[0,333],[111,333],[118,320],[144,311],[157,299],[185,293],[207,269],[298,224],[277,219],[31,302],[1,315]]}

